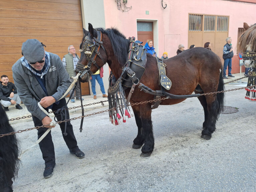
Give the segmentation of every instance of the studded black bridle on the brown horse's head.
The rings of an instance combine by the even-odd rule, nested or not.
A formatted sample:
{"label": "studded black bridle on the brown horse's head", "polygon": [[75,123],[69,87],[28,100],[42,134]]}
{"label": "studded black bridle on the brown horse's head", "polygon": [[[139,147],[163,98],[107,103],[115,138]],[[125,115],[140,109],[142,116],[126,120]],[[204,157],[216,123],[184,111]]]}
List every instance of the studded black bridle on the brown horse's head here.
{"label": "studded black bridle on the brown horse's head", "polygon": [[101,31],[95,29],[97,32],[97,38],[93,37],[91,38],[90,33],[85,37],[84,41],[82,42],[82,47],[80,49],[80,52],[84,52],[86,55],[86,60],[88,60],[88,63],[86,66],[84,66],[82,63],[78,61],[77,63],[77,72],[79,72],[81,75],[81,78],[84,78],[84,75],[88,73],[88,75],[92,75],[93,72],[91,71],[91,66],[94,64],[98,69],[100,69],[99,65],[96,63],[95,59],[97,55],[101,58],[103,63],[106,63],[104,58],[100,54],[100,47],[105,51],[106,50],[103,46],[102,42],[102,33]]}

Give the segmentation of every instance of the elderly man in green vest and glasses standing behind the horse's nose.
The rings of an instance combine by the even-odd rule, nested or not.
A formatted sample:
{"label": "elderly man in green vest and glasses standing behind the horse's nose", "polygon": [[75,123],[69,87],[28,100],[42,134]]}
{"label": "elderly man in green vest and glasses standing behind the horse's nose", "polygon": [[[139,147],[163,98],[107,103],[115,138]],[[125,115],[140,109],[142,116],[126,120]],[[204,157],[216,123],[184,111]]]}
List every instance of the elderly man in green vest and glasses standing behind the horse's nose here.
{"label": "elderly man in green vest and glasses standing behind the horse's nose", "polygon": [[[76,49],[73,45],[70,45],[68,47],[68,52],[69,52],[68,54],[63,56],[62,63],[63,63],[63,65],[65,66],[66,70],[69,73],[70,81],[73,82],[74,79],[71,78],[71,77],[76,76],[75,69],[76,69],[76,66],[77,66],[77,62],[79,61],[80,58],[77,55]],[[74,89],[74,87],[72,87],[72,89],[70,90],[70,92],[69,92],[70,95],[71,95],[73,89]],[[79,83],[77,83],[76,90],[75,90],[75,92],[73,93],[73,95],[71,97],[71,100],[70,100],[71,103],[75,103],[75,94],[76,94],[76,100],[80,100],[80,86],[79,86]],[[84,100],[84,99],[82,99],[82,100]]]}

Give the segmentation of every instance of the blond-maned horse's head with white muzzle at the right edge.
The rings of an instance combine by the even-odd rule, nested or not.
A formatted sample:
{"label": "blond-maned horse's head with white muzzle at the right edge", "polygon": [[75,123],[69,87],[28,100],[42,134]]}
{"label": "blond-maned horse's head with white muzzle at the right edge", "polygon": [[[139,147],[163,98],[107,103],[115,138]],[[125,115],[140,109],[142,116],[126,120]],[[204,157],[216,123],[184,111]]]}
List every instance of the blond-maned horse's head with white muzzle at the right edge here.
{"label": "blond-maned horse's head with white muzzle at the right edge", "polygon": [[243,53],[243,64],[252,67],[256,61],[256,23],[249,26],[244,23],[246,30],[238,39],[237,50]]}

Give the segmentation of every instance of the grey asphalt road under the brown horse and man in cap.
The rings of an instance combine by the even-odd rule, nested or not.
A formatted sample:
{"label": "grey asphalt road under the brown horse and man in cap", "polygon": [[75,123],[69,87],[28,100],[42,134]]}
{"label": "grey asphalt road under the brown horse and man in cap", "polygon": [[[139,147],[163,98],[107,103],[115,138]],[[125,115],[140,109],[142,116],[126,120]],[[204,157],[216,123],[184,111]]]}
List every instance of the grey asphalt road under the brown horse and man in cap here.
{"label": "grey asphalt road under the brown horse and man in cap", "polygon": [[[226,89],[238,88],[227,85]],[[225,106],[237,113],[221,114],[209,141],[200,139],[203,107],[197,98],[152,111],[155,149],[149,159],[131,148],[137,135],[135,119],[113,126],[108,113],[72,121],[80,149],[77,159],[69,153],[59,127],[52,129],[56,167],[43,178],[44,162],[39,146],[22,158],[13,189],[18,192],[255,192],[256,102],[244,99],[245,90],[226,93]],[[86,103],[86,101],[85,101]],[[106,110],[100,108],[90,114]],[[72,114],[78,117],[81,114]],[[12,125],[32,128],[33,122]],[[36,130],[17,134],[21,149],[31,146]]]}

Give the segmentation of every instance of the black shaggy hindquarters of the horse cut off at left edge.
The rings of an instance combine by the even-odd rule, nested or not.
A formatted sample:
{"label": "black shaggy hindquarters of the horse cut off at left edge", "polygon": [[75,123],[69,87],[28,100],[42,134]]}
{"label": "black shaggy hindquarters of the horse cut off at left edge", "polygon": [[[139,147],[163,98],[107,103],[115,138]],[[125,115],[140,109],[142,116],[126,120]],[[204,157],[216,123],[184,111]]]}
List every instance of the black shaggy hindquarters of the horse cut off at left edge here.
{"label": "black shaggy hindquarters of the horse cut off at left edge", "polygon": [[[0,106],[0,135],[14,132],[7,115]],[[0,192],[11,192],[12,178],[18,174],[18,141],[15,135],[0,137]]]}

